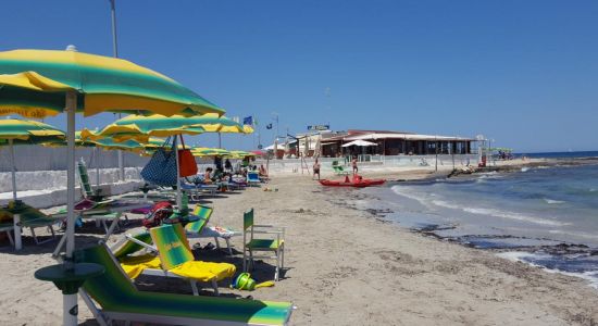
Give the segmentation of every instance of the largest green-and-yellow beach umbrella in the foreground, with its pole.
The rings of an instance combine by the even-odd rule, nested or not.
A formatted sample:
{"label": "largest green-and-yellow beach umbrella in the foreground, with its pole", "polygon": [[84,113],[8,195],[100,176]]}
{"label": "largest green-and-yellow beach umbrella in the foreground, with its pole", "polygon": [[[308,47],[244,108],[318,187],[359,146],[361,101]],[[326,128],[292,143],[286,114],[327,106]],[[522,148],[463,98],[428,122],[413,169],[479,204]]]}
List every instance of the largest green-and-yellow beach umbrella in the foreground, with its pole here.
{"label": "largest green-and-yellow beach umbrella in the foreground, with its pole", "polygon": [[[138,114],[224,114],[224,110],[175,80],[122,59],[66,51],[0,52],[0,114],[45,117],[67,115],[67,227],[62,274],[77,272],[73,263],[75,202],[75,112]],[[96,274],[97,266],[79,266],[77,275]],[[50,271],[43,269],[43,272]],[[39,277],[41,269],[38,271]],[[60,273],[59,273],[60,275]],[[49,278],[47,278],[49,279]],[[63,323],[77,323],[76,291],[64,294]]]}

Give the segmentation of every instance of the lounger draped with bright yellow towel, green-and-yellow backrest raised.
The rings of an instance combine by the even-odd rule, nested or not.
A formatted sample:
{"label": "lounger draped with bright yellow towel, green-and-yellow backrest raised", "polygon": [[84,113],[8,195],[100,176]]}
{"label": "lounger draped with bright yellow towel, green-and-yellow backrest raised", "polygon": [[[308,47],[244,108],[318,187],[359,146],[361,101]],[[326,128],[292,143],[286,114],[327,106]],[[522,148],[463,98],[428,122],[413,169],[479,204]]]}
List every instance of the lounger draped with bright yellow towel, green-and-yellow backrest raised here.
{"label": "lounger draped with bright yellow towel, green-and-yellow backrest raised", "polygon": [[[217,281],[233,277],[235,274],[236,268],[233,264],[195,261],[180,224],[151,228],[150,236],[155,247],[149,244],[147,236],[141,234],[135,237],[127,236],[129,241],[115,251],[121,265],[132,278],[140,274],[184,278],[191,284],[195,296],[199,294],[198,281],[210,283],[217,296]],[[158,256],[155,254],[128,255],[140,247],[157,252]]]}

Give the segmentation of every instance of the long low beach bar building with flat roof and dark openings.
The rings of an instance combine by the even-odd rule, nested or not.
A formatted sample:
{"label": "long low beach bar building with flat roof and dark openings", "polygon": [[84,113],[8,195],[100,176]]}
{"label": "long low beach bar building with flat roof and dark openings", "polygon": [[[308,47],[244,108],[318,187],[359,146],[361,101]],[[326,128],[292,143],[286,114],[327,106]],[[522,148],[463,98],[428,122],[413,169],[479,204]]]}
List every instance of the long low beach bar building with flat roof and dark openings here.
{"label": "long low beach bar building with flat roof and dark openings", "polygon": [[321,134],[320,154],[323,158],[471,154],[474,141],[466,137],[350,129],[346,133]]}

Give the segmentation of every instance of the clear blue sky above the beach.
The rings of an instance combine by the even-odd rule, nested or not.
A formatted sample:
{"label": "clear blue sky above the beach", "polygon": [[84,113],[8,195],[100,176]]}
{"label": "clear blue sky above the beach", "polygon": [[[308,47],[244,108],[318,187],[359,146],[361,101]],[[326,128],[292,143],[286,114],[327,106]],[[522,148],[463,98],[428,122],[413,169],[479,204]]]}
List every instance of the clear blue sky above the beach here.
{"label": "clear blue sky above the beach", "polygon": [[[291,133],[329,123],[484,134],[524,152],[598,150],[596,1],[116,0],[116,10],[120,57],[229,116],[257,116],[264,145],[277,112]],[[73,43],[112,54],[108,0],[5,1],[0,27],[1,50]],[[64,126],[64,117],[49,122]],[[257,143],[223,139],[227,148]]]}

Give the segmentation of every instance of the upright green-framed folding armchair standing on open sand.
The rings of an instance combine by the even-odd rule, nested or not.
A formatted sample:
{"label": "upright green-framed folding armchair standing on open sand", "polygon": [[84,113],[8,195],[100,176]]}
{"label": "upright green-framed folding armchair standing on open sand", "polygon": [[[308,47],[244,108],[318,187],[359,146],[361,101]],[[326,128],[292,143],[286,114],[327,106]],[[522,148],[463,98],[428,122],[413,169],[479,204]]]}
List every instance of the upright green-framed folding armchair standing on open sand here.
{"label": "upright green-framed folding armchair standing on open sand", "polygon": [[[270,238],[257,238],[254,235],[267,235]],[[274,255],[254,255],[253,252],[270,252]],[[275,259],[274,280],[278,280],[285,264],[285,228],[253,223],[253,209],[242,215],[242,271],[253,267],[253,259]]]}

